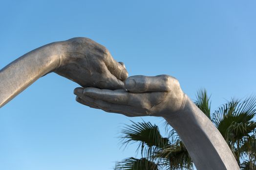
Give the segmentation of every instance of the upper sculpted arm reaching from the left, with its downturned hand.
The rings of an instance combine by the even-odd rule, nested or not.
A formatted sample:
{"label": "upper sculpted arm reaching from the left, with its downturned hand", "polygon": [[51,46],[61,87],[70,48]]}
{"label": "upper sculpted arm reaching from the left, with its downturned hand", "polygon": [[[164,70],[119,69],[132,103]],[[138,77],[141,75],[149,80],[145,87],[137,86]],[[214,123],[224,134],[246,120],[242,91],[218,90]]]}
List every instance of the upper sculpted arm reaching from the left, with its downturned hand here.
{"label": "upper sculpted arm reaching from the left, with its downturned hand", "polygon": [[47,44],[0,70],[0,107],[41,76],[55,72],[85,87],[122,89],[128,77],[107,49],[84,37]]}

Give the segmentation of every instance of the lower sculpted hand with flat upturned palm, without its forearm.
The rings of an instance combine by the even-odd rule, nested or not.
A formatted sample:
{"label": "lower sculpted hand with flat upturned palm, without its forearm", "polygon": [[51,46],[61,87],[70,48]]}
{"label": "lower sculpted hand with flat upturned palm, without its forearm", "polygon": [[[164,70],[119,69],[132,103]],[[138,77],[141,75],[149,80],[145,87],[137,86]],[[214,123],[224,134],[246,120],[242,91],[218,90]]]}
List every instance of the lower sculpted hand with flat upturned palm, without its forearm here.
{"label": "lower sculpted hand with flat upturned palm, without its forearm", "polygon": [[131,76],[125,87],[128,91],[79,87],[74,93],[77,102],[128,117],[165,116],[179,111],[185,100],[179,82],[168,75]]}

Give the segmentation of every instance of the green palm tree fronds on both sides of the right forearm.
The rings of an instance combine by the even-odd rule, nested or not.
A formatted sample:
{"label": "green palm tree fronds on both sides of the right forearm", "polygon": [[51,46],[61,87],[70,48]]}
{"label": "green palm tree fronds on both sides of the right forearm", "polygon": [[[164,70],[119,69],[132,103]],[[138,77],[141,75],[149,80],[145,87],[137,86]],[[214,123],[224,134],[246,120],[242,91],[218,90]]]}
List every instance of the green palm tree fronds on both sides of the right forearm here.
{"label": "green palm tree fronds on both sides of the right forearm", "polygon": [[[211,101],[205,89],[194,102],[213,121],[226,140],[241,170],[256,170],[256,98],[227,101],[211,114]],[[117,162],[115,170],[193,170],[192,159],[180,137],[166,123],[168,137],[157,125],[133,122],[121,131],[122,144],[138,143],[141,157]]]}

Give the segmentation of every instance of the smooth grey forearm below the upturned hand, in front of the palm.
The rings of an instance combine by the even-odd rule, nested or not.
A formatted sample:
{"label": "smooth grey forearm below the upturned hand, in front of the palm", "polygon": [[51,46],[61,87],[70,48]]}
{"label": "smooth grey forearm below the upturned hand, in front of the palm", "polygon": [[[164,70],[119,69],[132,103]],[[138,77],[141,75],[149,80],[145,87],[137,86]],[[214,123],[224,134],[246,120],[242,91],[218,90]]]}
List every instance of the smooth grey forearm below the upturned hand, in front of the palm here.
{"label": "smooth grey forearm below the upturned hand, in front of the palm", "polygon": [[182,139],[197,170],[239,170],[217,128],[187,96],[182,110],[166,114],[165,119]]}

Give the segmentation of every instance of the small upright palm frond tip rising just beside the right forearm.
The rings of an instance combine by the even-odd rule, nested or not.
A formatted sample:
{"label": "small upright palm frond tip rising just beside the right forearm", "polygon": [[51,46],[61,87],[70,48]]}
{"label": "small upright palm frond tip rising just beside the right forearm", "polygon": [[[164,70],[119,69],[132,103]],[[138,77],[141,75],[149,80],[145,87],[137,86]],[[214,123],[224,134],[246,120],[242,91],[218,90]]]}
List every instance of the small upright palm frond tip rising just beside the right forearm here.
{"label": "small upright palm frond tip rising just beside the right forearm", "polygon": [[196,94],[195,105],[211,119],[211,96],[208,96],[206,89],[200,89]]}

